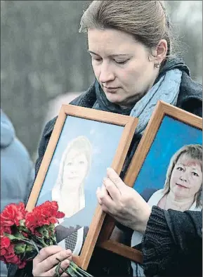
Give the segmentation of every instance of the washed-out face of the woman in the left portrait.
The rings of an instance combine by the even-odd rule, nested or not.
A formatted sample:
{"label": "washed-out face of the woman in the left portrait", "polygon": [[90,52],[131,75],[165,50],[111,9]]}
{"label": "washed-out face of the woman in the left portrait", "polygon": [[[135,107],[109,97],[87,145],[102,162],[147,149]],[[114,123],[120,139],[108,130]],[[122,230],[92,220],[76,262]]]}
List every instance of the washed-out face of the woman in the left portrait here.
{"label": "washed-out face of the woman in the left portrait", "polygon": [[77,150],[70,150],[65,159],[63,169],[63,185],[68,188],[79,188],[84,181],[88,170],[88,161],[84,153],[79,153]]}

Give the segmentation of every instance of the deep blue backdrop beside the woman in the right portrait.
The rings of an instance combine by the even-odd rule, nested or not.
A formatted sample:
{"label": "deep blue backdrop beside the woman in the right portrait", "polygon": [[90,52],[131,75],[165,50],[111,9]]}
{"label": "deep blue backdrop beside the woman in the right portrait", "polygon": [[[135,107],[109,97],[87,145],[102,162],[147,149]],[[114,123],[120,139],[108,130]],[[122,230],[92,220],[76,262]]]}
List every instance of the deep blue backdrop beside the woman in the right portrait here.
{"label": "deep blue backdrop beside the woman in the right portrait", "polygon": [[141,195],[145,188],[163,188],[173,154],[196,143],[202,144],[202,130],[165,116],[133,188]]}

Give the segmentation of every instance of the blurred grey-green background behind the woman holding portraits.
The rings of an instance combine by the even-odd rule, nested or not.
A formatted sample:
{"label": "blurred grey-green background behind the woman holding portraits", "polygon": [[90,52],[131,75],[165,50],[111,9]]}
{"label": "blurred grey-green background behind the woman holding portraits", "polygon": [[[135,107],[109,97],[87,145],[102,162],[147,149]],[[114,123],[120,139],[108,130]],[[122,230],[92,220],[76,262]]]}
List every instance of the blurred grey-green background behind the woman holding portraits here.
{"label": "blurred grey-green background behind the woman holding portraits", "polygon": [[[46,121],[93,82],[79,20],[91,1],[1,1],[1,108],[35,161]],[[202,1],[165,1],[178,51],[202,83]]]}

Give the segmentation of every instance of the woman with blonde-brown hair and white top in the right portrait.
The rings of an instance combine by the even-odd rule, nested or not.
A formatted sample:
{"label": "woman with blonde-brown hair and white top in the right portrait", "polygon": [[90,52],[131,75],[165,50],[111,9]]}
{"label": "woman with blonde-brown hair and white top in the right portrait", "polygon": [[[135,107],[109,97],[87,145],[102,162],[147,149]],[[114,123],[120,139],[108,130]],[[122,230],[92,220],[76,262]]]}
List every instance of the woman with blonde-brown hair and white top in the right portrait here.
{"label": "woman with blonde-brown hair and white top in the right portrait", "polygon": [[[143,198],[145,193],[143,193]],[[164,188],[152,193],[150,207],[184,212],[202,210],[202,146],[183,146],[171,157]],[[140,249],[143,235],[133,232],[131,247]],[[131,263],[133,276],[144,276],[142,266]]]}

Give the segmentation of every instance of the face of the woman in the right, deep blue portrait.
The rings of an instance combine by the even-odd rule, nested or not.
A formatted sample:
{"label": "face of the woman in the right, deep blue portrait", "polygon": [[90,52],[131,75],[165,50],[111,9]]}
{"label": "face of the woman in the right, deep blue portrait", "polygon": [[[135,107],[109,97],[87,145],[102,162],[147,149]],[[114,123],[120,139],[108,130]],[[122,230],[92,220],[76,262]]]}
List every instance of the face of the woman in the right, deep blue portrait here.
{"label": "face of the woman in the right, deep blue portrait", "polygon": [[170,189],[181,198],[194,198],[202,185],[200,162],[192,160],[187,154],[181,155],[173,168]]}

